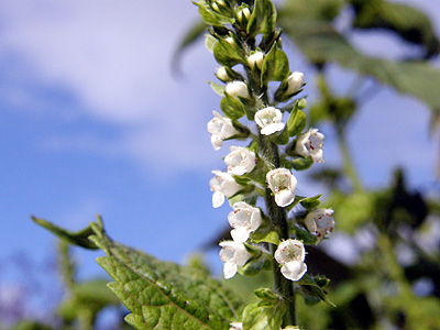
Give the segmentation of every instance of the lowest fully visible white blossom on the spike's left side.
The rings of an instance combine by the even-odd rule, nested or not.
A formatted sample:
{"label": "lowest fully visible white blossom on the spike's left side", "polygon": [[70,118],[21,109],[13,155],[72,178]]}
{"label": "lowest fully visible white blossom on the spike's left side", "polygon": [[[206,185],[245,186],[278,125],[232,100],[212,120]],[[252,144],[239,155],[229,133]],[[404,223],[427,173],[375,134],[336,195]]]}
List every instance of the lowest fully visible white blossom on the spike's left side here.
{"label": "lowest fully visible white blossom on the spike's left side", "polygon": [[220,250],[220,260],[224,263],[223,276],[228,279],[235,275],[239,266],[245,265],[252,254],[248,252],[244,244],[234,241],[220,242],[219,245],[222,248]]}

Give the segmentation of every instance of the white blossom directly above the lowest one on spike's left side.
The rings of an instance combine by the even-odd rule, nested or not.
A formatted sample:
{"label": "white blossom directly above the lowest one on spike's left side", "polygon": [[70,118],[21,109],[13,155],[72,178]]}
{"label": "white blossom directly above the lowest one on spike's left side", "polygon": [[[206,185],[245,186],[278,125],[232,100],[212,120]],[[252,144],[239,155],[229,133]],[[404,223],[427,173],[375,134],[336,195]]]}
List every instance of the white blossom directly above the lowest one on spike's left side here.
{"label": "white blossom directly above the lowest one on spike's left side", "polygon": [[229,224],[233,228],[231,235],[234,242],[244,243],[251,232],[254,232],[262,224],[260,209],[250,206],[244,201],[235,202],[233,211],[228,215]]}

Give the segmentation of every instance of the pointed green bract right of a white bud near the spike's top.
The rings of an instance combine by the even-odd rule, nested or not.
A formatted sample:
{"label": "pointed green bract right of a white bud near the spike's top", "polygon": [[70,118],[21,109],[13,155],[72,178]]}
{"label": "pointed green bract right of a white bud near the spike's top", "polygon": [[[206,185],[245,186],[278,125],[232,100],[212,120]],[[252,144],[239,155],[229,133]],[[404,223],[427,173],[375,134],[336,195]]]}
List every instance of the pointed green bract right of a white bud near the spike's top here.
{"label": "pointed green bract right of a white bud near the spike's top", "polygon": [[274,43],[271,51],[264,57],[261,80],[263,85],[268,81],[282,81],[289,75],[289,63],[286,53]]}

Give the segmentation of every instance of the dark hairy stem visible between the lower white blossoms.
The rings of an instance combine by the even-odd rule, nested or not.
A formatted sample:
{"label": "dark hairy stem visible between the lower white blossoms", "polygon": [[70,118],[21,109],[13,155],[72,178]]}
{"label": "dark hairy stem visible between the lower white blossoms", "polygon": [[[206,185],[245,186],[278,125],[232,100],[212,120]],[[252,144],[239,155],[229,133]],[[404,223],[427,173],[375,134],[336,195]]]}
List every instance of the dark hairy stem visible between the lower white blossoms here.
{"label": "dark hairy stem visible between the lower white blossoms", "polygon": [[[267,136],[260,135],[260,146],[262,148],[262,156],[264,156],[268,162],[279,167],[279,151],[278,146],[274,144]],[[272,191],[270,188],[265,190],[265,202],[268,212],[268,218],[271,222],[279,230],[279,238],[282,240],[287,240],[288,226],[287,226],[287,212],[284,208],[276,205]],[[272,255],[275,254],[277,246],[275,244],[270,244]],[[284,301],[287,304],[287,312],[283,318],[283,328],[287,326],[296,326],[296,308],[295,308],[295,290],[294,283],[279,272],[278,263],[273,260],[272,263],[274,290],[279,294]]]}

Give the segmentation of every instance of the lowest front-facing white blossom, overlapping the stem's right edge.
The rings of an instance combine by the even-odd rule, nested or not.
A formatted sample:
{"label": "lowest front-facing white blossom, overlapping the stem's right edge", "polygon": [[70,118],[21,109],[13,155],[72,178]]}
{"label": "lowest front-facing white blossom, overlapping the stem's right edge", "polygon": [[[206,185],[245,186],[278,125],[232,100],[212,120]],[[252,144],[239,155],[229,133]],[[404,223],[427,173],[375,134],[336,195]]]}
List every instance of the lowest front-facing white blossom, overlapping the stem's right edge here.
{"label": "lowest front-facing white blossom, overlapping the stem's right edge", "polygon": [[290,280],[298,280],[306,274],[305,257],[306,250],[298,240],[283,241],[275,251],[275,260],[282,265],[283,276]]}

